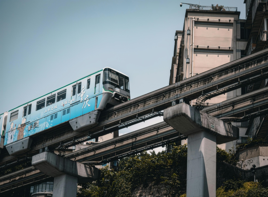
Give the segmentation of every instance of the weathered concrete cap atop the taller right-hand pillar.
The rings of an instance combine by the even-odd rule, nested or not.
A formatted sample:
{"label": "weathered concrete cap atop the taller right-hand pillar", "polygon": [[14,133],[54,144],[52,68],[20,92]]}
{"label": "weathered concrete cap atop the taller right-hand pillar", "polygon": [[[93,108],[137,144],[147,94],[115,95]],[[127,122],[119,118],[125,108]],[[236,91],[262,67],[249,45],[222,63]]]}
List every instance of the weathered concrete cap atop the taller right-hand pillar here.
{"label": "weathered concrete cap atop the taller right-hand pillar", "polygon": [[239,128],[185,103],[165,109],[164,121],[186,136],[206,131],[216,136],[217,144],[239,139]]}

